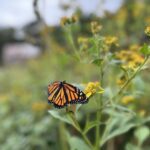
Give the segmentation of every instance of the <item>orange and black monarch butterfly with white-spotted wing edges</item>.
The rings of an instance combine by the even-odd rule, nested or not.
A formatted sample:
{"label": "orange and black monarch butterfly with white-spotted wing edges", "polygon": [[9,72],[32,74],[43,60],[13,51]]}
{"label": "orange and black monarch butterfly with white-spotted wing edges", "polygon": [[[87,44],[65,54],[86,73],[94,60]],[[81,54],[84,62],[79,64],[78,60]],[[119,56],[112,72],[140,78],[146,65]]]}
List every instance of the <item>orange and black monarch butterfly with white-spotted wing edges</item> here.
{"label": "orange and black monarch butterfly with white-spotted wing edges", "polygon": [[56,108],[86,102],[88,102],[86,95],[79,88],[65,81],[55,81],[48,85],[48,103],[53,103]]}

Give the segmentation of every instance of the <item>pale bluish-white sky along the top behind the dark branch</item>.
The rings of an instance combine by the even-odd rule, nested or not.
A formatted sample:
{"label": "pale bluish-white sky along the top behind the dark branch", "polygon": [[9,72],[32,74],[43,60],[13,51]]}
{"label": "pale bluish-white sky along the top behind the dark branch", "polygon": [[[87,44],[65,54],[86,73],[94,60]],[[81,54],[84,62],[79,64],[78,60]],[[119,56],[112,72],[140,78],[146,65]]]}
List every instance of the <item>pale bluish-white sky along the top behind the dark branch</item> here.
{"label": "pale bluish-white sky along the top behind the dark branch", "polygon": [[[64,11],[60,3],[71,4],[71,9]],[[58,25],[60,18],[70,16],[77,7],[85,15],[95,13],[102,16],[104,10],[116,12],[123,0],[39,0],[39,8],[45,21],[49,25]],[[0,28],[22,28],[27,23],[35,20],[32,6],[33,0],[0,0]]]}

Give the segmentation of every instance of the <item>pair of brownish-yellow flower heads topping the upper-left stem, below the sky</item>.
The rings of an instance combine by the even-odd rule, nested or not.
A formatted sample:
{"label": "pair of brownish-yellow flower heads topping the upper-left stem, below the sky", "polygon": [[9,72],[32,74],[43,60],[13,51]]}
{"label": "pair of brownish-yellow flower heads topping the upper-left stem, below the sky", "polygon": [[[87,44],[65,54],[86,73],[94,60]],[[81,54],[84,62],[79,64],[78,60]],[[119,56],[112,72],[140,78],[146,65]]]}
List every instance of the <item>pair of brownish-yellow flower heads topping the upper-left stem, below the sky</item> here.
{"label": "pair of brownish-yellow flower heads topping the upper-left stem, below the sky", "polygon": [[61,18],[61,25],[62,26],[65,26],[65,25],[68,25],[68,24],[72,24],[72,23],[75,23],[78,21],[78,17],[76,15],[68,18],[68,17],[62,17]]}

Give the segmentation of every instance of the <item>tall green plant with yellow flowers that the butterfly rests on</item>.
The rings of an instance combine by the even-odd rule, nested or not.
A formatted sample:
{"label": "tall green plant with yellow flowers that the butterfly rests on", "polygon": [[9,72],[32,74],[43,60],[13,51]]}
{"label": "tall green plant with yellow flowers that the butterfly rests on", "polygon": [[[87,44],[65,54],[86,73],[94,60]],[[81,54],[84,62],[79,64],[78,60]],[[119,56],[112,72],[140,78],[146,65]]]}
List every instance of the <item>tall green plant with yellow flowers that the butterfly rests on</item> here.
{"label": "tall green plant with yellow flowers that the butterfly rests on", "polygon": [[[89,98],[89,103],[92,105],[91,107],[88,106],[90,104],[85,105],[83,111],[80,110],[82,105],[77,105],[75,110],[70,106],[66,110],[49,110],[49,113],[54,118],[64,122],[63,136],[66,137],[66,140],[63,139],[63,141],[68,142],[70,149],[98,150],[103,148],[110,139],[150,121],[149,117],[141,118],[127,106],[121,105],[122,97],[129,94],[132,81],[139,76],[139,73],[149,60],[149,46],[145,44],[140,49],[141,54],[137,50],[137,52],[131,51],[129,55],[123,53],[122,57],[127,57],[127,59],[122,57],[118,59],[117,54],[120,51],[111,52],[111,49],[118,45],[117,38],[102,36],[99,33],[101,26],[97,22],[92,22],[91,31],[93,35],[80,38],[79,47],[77,47],[77,41],[72,36],[72,30],[75,25],[73,24],[74,22],[68,22],[68,20],[71,19],[63,19],[63,25],[68,42],[74,50],[76,60],[97,66],[99,72],[97,80],[99,80],[101,87],[104,88],[104,93],[99,94],[96,90],[93,92],[93,89],[90,88],[89,92],[91,92],[90,96],[92,97]],[[133,57],[128,60],[130,55]],[[138,62],[137,57],[138,60],[140,58]],[[121,87],[114,85],[116,84],[114,77],[118,77],[116,69],[127,77]],[[111,75],[113,75],[113,79],[110,77]],[[94,84],[93,82],[92,85]],[[84,122],[82,122],[82,119]],[[67,124],[75,128],[79,135],[73,136],[67,130]],[[146,132],[147,129],[143,130]],[[136,137],[139,137],[139,132],[135,133]],[[143,137],[143,139],[147,138],[147,134],[144,134]],[[137,147],[141,147],[143,139],[139,138]]]}

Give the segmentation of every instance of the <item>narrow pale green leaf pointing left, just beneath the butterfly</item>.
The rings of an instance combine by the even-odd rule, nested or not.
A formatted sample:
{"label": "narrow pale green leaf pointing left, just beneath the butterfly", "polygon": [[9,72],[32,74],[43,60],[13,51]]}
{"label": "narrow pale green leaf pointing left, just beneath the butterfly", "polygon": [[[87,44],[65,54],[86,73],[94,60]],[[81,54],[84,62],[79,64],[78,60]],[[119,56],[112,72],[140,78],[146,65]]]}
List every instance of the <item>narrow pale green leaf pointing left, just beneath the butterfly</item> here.
{"label": "narrow pale green leaf pointing left, just beneath the butterfly", "polygon": [[63,121],[65,123],[74,125],[73,120],[70,118],[70,116],[67,113],[65,114],[59,113],[58,110],[49,110],[48,112],[51,114],[52,117],[59,119],[60,121]]}

